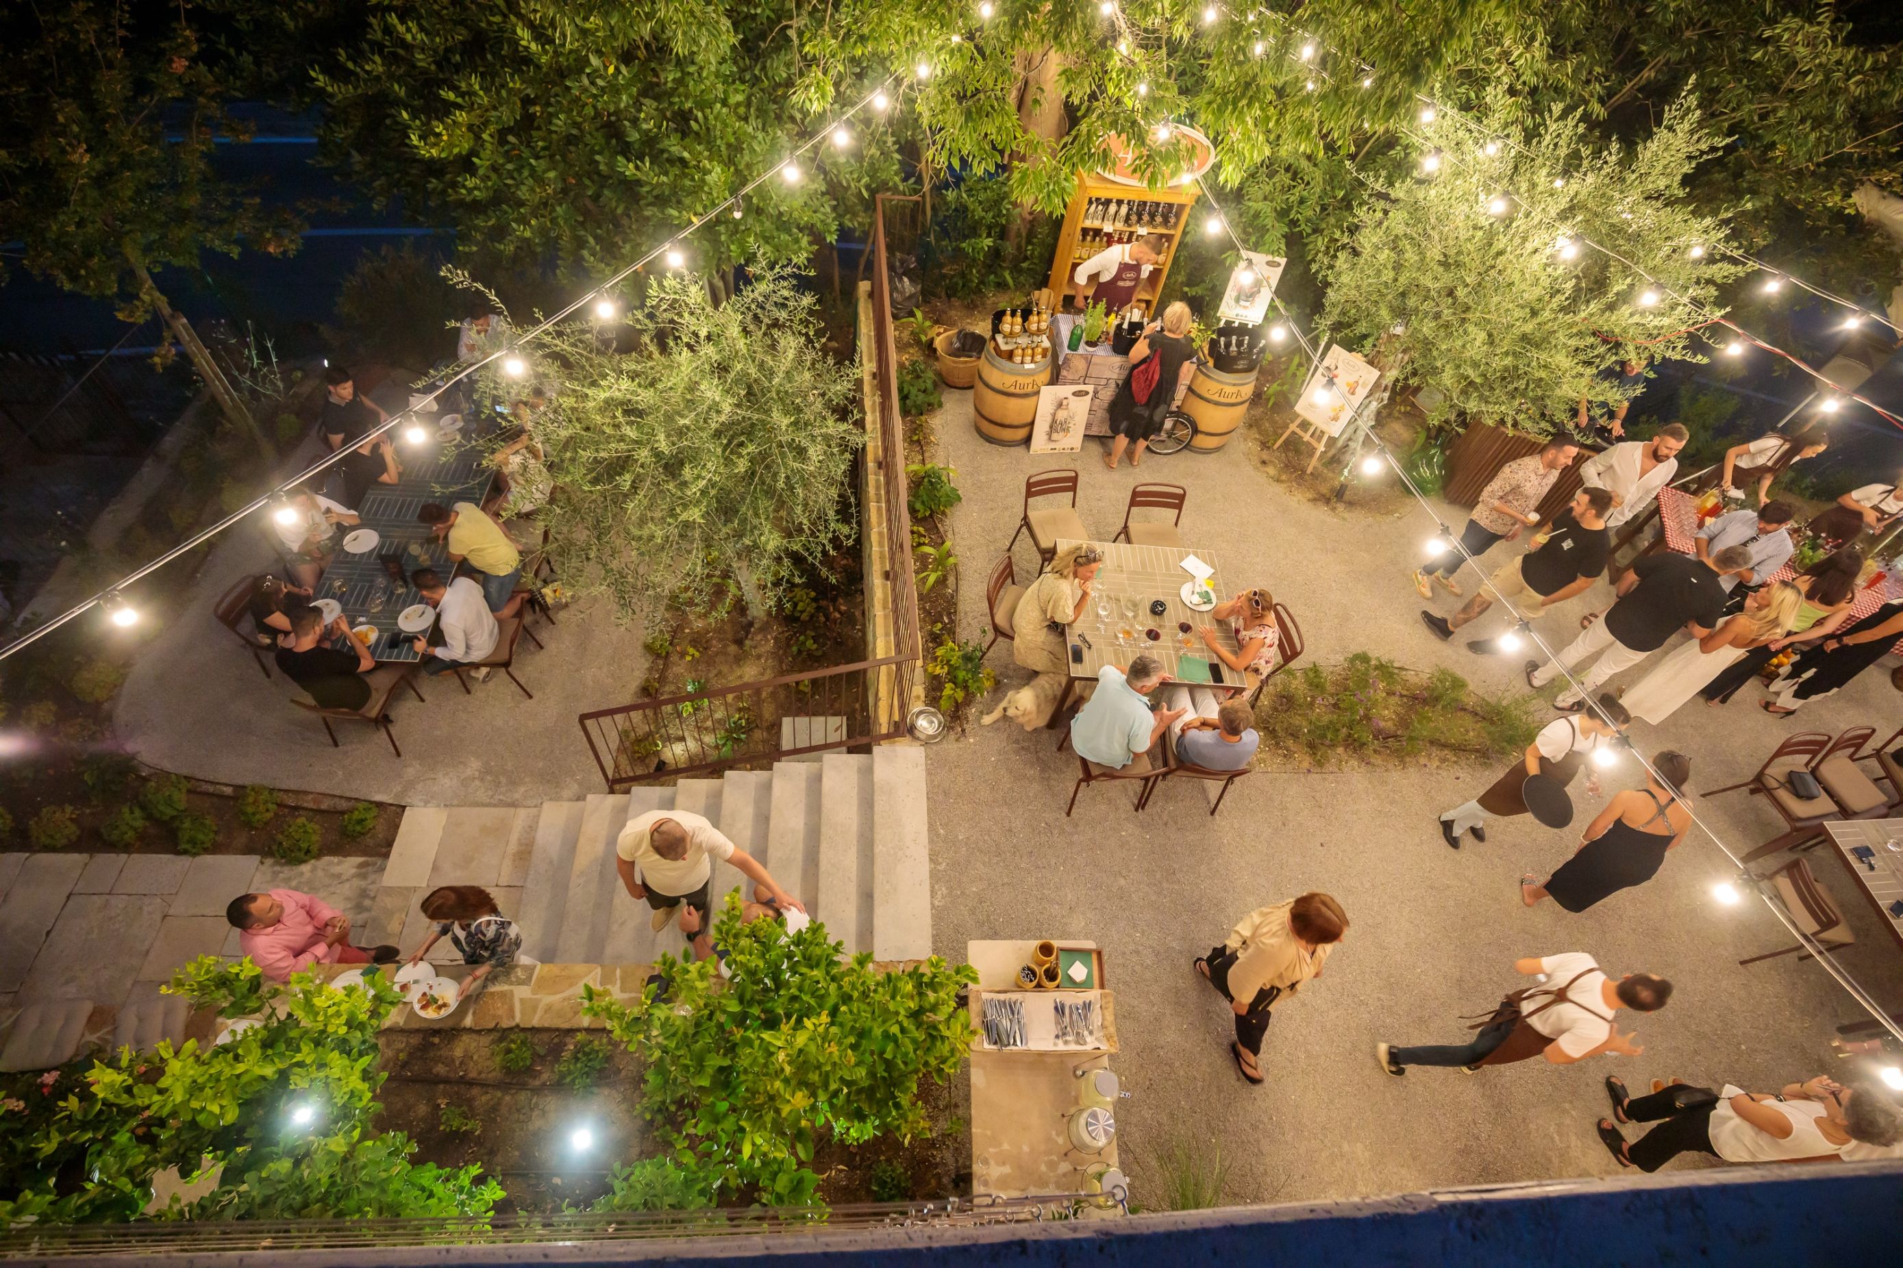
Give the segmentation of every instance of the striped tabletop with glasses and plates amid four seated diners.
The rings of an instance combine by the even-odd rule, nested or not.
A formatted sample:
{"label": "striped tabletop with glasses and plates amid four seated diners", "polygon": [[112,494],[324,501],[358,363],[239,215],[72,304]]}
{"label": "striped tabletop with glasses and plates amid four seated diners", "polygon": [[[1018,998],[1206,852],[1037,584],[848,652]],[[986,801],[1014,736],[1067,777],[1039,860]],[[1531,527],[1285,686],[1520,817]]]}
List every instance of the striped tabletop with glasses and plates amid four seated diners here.
{"label": "striped tabletop with glasses and plates amid four seated diners", "polygon": [[[1058,548],[1068,544],[1060,540]],[[1212,568],[1210,587],[1218,597],[1227,597],[1227,591],[1222,589],[1222,567],[1214,553],[1184,546],[1127,546],[1121,542],[1090,542],[1090,546],[1104,551],[1104,567],[1096,574],[1094,601],[1085,605],[1083,616],[1068,633],[1071,648],[1083,648],[1083,660],[1071,660],[1073,679],[1094,679],[1104,665],[1128,667],[1144,652],[1161,660],[1163,673],[1172,679],[1180,677],[1178,667],[1184,654],[1203,656],[1214,665],[1216,658],[1195,633],[1199,625],[1214,625],[1218,629],[1216,641],[1231,652],[1237,650],[1227,624],[1214,622],[1208,612],[1195,612],[1182,601],[1184,582],[1189,580],[1182,568],[1187,555],[1195,555]],[[1125,612],[1125,599],[1134,603],[1134,616]],[[1161,616],[1149,610],[1155,599],[1163,599],[1167,605]],[[1108,605],[1108,616],[1100,614],[1100,605]],[[1178,629],[1180,624],[1187,624],[1189,633]],[[1157,631],[1155,641],[1146,637],[1149,629]],[[1239,686],[1241,675],[1231,673],[1227,665],[1220,667],[1226,686]]]}

